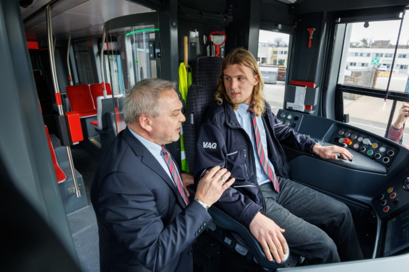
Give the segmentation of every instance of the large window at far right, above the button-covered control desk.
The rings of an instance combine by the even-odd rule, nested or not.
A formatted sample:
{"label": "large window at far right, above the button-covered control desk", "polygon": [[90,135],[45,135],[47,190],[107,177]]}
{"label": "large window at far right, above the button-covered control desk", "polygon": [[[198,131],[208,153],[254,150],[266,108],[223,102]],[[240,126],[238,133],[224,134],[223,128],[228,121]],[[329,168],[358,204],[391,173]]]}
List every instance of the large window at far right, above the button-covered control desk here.
{"label": "large window at far right, above the button-covered control desk", "polygon": [[[409,19],[345,25],[337,91],[350,124],[387,137],[409,101]],[[409,144],[409,126],[403,144]]]}

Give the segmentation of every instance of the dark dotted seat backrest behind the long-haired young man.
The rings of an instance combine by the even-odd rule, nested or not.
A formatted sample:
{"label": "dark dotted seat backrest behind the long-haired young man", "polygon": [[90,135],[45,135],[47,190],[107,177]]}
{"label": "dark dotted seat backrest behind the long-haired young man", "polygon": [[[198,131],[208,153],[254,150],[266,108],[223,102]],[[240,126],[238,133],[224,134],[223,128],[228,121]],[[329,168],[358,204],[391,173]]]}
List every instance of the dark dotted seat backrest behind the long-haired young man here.
{"label": "dark dotted seat backrest behind the long-haired young man", "polygon": [[186,121],[183,125],[183,142],[189,170],[193,172],[198,133],[202,115],[214,101],[222,57],[201,57],[192,63],[192,85],[187,93]]}

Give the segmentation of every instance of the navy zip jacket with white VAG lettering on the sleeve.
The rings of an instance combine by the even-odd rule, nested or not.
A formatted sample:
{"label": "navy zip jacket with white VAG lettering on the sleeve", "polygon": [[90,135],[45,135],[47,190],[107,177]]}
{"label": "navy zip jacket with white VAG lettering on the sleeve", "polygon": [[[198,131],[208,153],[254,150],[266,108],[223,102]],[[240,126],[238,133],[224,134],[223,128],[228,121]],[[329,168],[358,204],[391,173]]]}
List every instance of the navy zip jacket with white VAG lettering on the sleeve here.
{"label": "navy zip jacket with white VAG lettering on the sleeve", "polygon": [[[310,153],[315,143],[281,121],[267,110],[262,119],[266,131],[267,153],[277,176],[290,177],[288,165],[280,142]],[[269,133],[267,133],[269,132]],[[264,201],[256,179],[255,160],[252,144],[245,130],[240,126],[230,103],[213,103],[202,117],[195,155],[195,181],[213,166],[225,167],[236,178],[217,205],[231,217],[249,226],[258,211],[264,213]]]}

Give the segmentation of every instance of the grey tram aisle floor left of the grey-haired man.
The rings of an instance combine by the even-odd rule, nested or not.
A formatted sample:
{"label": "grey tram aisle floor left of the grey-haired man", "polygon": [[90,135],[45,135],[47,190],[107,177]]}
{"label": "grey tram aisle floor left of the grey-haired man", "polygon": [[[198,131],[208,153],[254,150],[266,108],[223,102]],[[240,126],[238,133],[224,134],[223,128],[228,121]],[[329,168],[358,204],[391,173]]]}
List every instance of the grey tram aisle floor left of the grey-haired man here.
{"label": "grey tram aisle floor left of the grey-haired man", "polygon": [[88,206],[67,214],[72,238],[83,272],[99,272],[98,227],[90,200],[90,185],[100,157],[83,146],[71,148],[75,169],[84,181]]}

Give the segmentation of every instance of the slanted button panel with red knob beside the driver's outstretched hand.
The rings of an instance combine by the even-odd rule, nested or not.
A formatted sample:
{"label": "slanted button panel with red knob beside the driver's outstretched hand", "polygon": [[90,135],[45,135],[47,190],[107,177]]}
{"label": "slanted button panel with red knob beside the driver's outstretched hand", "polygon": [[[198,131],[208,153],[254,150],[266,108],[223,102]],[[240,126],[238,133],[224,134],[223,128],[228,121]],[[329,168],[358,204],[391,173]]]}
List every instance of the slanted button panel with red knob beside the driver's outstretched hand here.
{"label": "slanted button panel with red knob beside the driver's outstretched hand", "polygon": [[378,137],[372,137],[354,128],[337,126],[335,132],[330,137],[331,144],[346,144],[357,152],[360,152],[371,159],[390,166],[398,155],[399,150],[386,141],[383,142]]}

